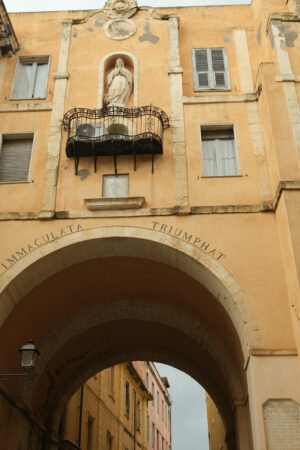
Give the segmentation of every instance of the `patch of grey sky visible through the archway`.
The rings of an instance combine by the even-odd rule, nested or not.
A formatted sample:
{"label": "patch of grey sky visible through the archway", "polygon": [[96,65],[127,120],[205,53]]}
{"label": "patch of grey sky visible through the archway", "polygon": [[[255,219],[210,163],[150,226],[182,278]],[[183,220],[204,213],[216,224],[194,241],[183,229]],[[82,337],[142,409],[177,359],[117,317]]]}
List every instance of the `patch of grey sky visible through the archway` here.
{"label": "patch of grey sky visible through the archway", "polygon": [[193,378],[165,364],[155,363],[168,377],[172,397],[172,450],[209,450],[205,391]]}

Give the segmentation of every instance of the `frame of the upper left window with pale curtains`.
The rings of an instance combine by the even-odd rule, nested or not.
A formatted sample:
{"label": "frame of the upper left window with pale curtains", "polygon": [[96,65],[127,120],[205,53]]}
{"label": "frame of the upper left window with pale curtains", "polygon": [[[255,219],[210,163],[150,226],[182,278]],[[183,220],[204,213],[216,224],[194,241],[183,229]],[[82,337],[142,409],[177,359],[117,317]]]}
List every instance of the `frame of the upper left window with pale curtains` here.
{"label": "frame of the upper left window with pale curtains", "polygon": [[[37,65],[38,65],[39,62],[40,63],[43,63],[43,62],[47,62],[48,63],[47,75],[46,75],[46,84],[45,84],[45,96],[44,97],[29,97],[29,96],[27,96],[27,97],[16,97],[16,91],[17,91],[18,82],[19,82],[19,79],[20,79],[20,73],[21,73],[22,64],[30,64],[30,63],[32,63],[32,64],[35,65],[34,76],[31,76],[30,90],[28,91],[30,93],[30,92],[33,92],[33,90],[34,90],[35,79],[36,79],[36,70],[37,70]],[[11,88],[11,92],[10,92],[10,100],[12,100],[12,101],[15,101],[15,100],[45,100],[47,98],[47,91],[48,91],[50,64],[51,64],[51,56],[50,55],[18,56],[17,57],[17,62],[16,62],[16,67],[15,67],[15,72],[14,72],[12,88]]]}

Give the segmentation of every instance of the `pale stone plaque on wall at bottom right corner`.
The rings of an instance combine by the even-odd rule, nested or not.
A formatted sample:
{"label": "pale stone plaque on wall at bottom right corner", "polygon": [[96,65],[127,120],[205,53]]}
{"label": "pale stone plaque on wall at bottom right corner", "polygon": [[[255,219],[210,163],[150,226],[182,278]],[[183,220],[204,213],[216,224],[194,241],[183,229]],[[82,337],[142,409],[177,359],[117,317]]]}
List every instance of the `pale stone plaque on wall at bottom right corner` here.
{"label": "pale stone plaque on wall at bottom right corner", "polygon": [[269,400],[264,405],[268,450],[300,450],[300,405]]}

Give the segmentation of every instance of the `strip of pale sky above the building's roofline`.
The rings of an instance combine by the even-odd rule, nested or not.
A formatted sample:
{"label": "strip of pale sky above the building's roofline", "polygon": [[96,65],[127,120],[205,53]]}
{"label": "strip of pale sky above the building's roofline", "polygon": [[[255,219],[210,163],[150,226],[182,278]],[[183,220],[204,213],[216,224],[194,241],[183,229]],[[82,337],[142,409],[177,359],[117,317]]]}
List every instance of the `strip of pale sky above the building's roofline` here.
{"label": "strip of pale sky above the building's roofline", "polygon": [[[137,0],[139,6],[240,5],[251,0]],[[4,0],[8,12],[103,8],[105,0]]]}

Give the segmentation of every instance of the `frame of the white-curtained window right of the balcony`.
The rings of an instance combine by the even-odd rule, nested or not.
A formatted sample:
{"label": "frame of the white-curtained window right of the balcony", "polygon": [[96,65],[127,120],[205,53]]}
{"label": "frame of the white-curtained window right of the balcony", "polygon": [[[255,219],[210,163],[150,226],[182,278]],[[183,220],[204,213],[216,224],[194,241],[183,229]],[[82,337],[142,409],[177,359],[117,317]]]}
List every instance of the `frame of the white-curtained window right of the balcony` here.
{"label": "frame of the white-curtained window right of the balcony", "polygon": [[[229,128],[232,128],[233,131],[233,140],[234,140],[234,146],[233,146],[233,150],[234,150],[234,157],[235,157],[235,165],[237,167],[237,173],[235,174],[230,174],[230,175],[226,175],[223,173],[217,173],[216,175],[205,175],[204,174],[204,155],[203,155],[203,141],[205,139],[202,139],[202,130],[203,131],[222,131],[222,130],[228,130]],[[240,166],[240,160],[239,160],[239,151],[238,151],[238,145],[237,145],[237,137],[236,137],[236,129],[235,129],[235,125],[234,124],[207,124],[207,125],[200,125],[199,127],[200,130],[200,142],[201,142],[201,162],[202,162],[202,178],[220,178],[220,177],[240,177],[242,176],[241,174],[241,166]],[[216,139],[211,139],[211,140],[218,140]],[[220,139],[219,139],[220,140]],[[216,149],[217,150],[217,149]],[[218,149],[218,152],[216,151],[216,153],[218,153],[218,155],[216,156],[217,159],[217,171],[219,172],[220,169],[220,160],[221,160],[221,152],[220,152],[220,147]]]}

